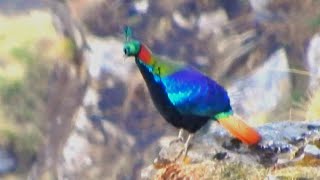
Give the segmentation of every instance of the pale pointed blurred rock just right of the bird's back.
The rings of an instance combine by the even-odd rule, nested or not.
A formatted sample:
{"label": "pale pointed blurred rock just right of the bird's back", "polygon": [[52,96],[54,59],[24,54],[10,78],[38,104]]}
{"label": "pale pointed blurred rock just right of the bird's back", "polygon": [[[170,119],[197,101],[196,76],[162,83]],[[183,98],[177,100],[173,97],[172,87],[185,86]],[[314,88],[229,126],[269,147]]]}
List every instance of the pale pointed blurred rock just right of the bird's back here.
{"label": "pale pointed blurred rock just right of the bird's back", "polygon": [[260,68],[228,88],[234,111],[246,119],[269,114],[288,100],[290,91],[288,58],[284,49],[273,53]]}

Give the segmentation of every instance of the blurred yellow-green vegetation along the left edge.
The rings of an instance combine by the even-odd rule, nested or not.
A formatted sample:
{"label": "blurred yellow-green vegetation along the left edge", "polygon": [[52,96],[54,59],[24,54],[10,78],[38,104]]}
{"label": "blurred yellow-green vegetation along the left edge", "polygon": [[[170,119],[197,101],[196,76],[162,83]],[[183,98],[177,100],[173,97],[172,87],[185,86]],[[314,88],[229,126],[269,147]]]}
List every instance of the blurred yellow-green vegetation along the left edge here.
{"label": "blurred yellow-green vegetation along the left edge", "polygon": [[43,140],[49,71],[61,42],[49,13],[0,16],[0,147],[16,154],[21,171]]}

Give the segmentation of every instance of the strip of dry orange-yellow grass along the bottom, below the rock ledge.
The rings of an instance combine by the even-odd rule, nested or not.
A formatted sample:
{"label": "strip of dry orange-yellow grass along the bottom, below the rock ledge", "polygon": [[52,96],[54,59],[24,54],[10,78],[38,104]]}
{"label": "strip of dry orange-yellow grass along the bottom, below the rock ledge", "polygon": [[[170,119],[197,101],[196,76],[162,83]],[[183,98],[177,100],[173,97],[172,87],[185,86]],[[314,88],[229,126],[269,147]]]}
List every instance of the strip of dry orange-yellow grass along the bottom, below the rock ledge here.
{"label": "strip of dry orange-yellow grass along the bottom, below the rock ledge", "polygon": [[320,177],[319,167],[291,166],[281,169],[249,166],[239,163],[206,161],[196,164],[170,164],[157,171],[154,179],[314,179]]}

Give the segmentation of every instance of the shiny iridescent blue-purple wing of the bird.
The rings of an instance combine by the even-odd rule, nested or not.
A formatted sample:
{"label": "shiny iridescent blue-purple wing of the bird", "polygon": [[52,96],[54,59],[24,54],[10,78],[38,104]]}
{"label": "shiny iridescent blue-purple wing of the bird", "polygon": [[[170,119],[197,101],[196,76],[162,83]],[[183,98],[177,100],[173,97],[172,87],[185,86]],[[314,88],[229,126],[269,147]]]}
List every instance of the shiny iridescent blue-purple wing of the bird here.
{"label": "shiny iridescent blue-purple wing of the bird", "polygon": [[225,89],[195,69],[185,67],[161,81],[169,100],[182,114],[213,117],[231,110]]}

